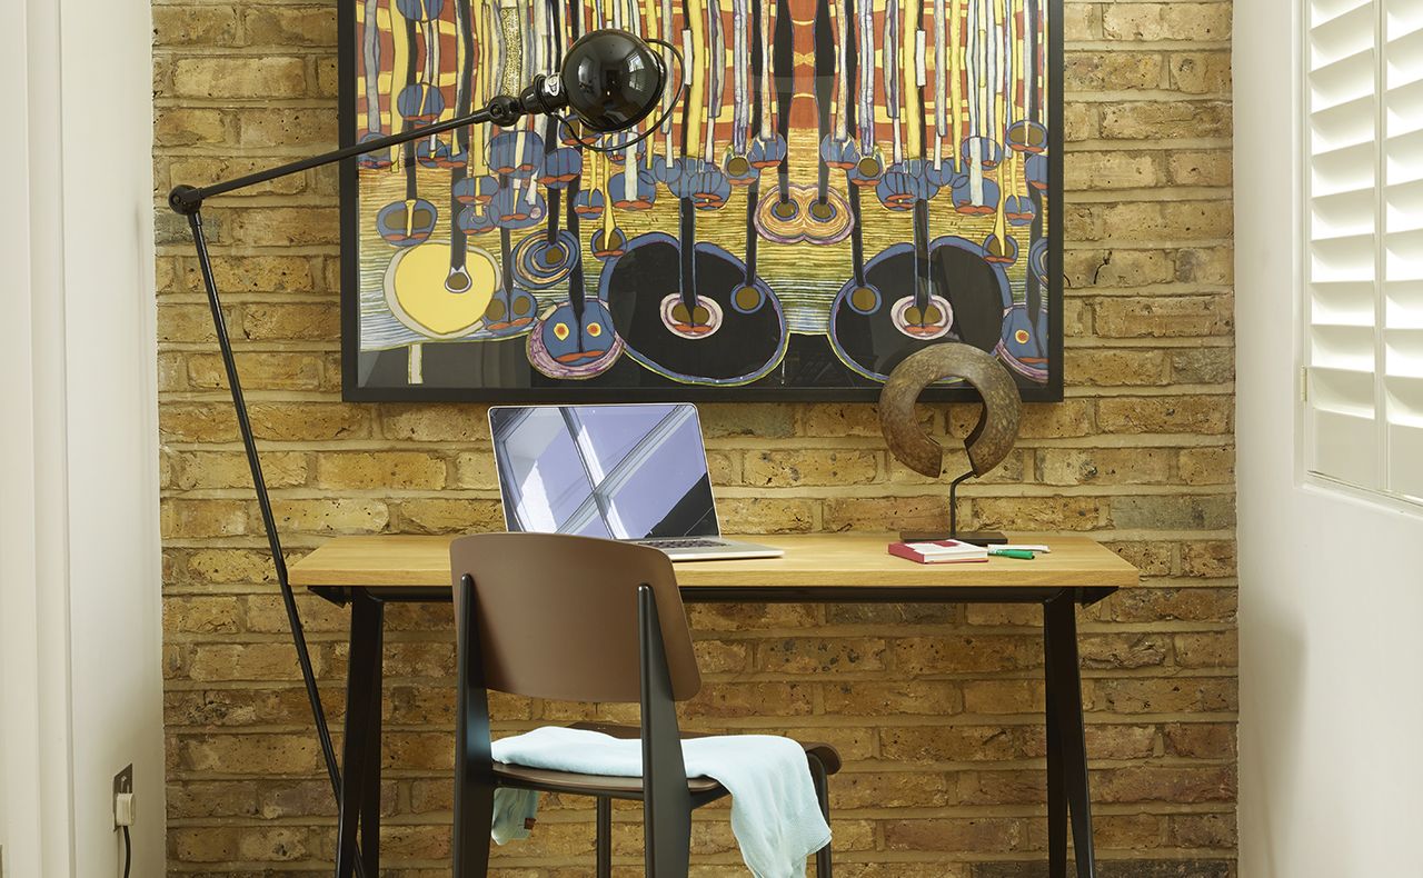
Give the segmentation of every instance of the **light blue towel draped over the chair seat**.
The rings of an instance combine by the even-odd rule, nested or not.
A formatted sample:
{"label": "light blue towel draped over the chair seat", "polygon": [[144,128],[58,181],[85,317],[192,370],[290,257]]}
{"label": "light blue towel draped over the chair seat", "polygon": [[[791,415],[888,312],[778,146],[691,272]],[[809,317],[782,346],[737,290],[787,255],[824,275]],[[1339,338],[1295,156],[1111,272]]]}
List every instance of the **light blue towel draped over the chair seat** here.
{"label": "light blue towel draped over the chair seat", "polygon": [[[494,741],[494,758],[529,768],[642,777],[642,741],[586,729],[548,726]],[[756,878],[803,878],[805,858],[830,844],[805,751],[770,734],[682,741],[687,777],[710,777],[731,793],[731,832]],[[522,790],[494,794],[494,840],[527,838],[536,798]],[[504,835],[501,840],[499,837]]]}

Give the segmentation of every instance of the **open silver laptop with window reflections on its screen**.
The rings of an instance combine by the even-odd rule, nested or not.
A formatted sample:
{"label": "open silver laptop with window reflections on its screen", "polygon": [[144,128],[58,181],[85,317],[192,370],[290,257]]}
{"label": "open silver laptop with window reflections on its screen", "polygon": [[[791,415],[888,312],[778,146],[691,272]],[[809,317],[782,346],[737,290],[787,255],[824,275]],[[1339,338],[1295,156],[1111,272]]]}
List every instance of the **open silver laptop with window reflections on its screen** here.
{"label": "open silver laptop with window reflections on its screen", "polygon": [[626,539],[673,561],[784,554],[721,539],[694,406],[495,406],[490,433],[509,531]]}

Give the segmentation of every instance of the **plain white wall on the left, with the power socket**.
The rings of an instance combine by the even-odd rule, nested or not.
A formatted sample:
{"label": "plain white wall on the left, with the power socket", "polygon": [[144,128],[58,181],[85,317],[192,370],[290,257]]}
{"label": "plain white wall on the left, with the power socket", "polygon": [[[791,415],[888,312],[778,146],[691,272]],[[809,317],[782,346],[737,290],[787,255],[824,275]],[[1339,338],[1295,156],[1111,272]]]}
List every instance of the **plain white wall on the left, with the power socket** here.
{"label": "plain white wall on the left, with the power socket", "polygon": [[[6,875],[164,874],[152,40],[147,0],[13,4],[0,228]],[[17,124],[16,124],[17,122]]]}

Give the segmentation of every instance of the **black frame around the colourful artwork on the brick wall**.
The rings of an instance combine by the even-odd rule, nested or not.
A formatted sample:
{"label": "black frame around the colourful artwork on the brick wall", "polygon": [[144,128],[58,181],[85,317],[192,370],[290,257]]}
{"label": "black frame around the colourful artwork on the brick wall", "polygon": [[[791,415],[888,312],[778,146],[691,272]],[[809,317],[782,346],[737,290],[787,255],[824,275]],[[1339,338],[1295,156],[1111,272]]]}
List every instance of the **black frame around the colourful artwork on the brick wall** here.
{"label": "black frame around the colourful artwork on the brick wall", "polygon": [[[343,147],[357,139],[356,73],[357,17],[360,0],[337,0],[337,75],[339,129]],[[393,3],[393,0],[391,0]],[[1026,403],[1063,400],[1063,0],[1046,0],[1047,46],[1047,287],[1049,327],[1047,381],[1030,383],[1015,374]],[[340,189],[340,327],[342,327],[342,400],[351,403],[872,403],[879,384],[864,387],[764,386],[754,383],[734,387],[673,384],[665,387],[598,387],[565,381],[552,387],[441,387],[383,386],[360,380],[360,276],[359,276],[359,166],[356,159],[339,166]],[[407,349],[401,349],[408,351]],[[388,354],[390,351],[387,351]],[[921,400],[928,403],[976,401],[978,393],[966,386],[928,387]]]}

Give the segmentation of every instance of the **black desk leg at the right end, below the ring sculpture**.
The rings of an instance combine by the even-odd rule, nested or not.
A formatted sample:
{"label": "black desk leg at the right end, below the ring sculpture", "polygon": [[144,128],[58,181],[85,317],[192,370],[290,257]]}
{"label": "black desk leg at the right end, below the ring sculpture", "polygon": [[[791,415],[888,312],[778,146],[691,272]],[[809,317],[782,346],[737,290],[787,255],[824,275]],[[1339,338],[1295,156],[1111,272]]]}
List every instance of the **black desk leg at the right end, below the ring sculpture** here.
{"label": "black desk leg at the right end, below the ring sculpture", "polygon": [[1059,878],[1067,872],[1067,827],[1063,824],[1064,811],[1070,811],[1077,878],[1096,878],[1096,858],[1091,850],[1091,795],[1087,790],[1087,744],[1081,719],[1081,676],[1077,660],[1077,610],[1073,592],[1062,592],[1043,603],[1043,640],[1047,665],[1049,875]]}

